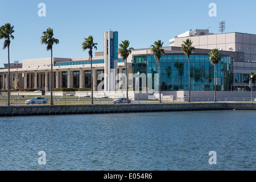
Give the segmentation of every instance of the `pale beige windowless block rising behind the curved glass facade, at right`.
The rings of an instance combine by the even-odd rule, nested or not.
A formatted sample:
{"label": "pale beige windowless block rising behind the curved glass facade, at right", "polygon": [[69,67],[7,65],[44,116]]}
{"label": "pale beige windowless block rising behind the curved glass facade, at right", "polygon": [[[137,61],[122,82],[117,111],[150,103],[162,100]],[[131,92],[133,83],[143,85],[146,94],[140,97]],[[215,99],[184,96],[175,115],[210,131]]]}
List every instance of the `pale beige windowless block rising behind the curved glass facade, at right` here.
{"label": "pale beige windowless block rising behind the curved glass facade, at right", "polygon": [[209,34],[207,30],[188,31],[171,39],[170,46],[180,47],[187,38],[191,39],[195,48],[218,48],[221,51],[237,52],[237,59],[233,59],[233,90],[250,90],[248,77],[251,72],[256,72],[256,35],[239,32]]}

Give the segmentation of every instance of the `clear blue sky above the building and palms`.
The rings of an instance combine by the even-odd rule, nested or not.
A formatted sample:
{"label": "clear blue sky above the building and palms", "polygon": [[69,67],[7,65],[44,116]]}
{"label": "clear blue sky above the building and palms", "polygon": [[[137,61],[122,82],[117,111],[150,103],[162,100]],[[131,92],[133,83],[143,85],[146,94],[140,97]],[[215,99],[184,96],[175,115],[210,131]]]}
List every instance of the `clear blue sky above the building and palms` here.
{"label": "clear blue sky above the building and palms", "polygon": [[[46,17],[39,17],[39,3],[46,4]],[[210,17],[208,7],[216,3],[217,16]],[[42,32],[53,28],[59,44],[54,57],[87,57],[81,44],[92,35],[103,51],[104,31],[118,31],[119,43],[129,40],[133,48],[148,48],[154,41],[169,39],[188,30],[207,29],[218,34],[218,22],[225,20],[225,32],[256,34],[254,0],[1,0],[0,26],[14,25],[10,61],[50,57],[40,44]],[[7,49],[0,40],[0,67],[7,63]],[[95,52],[95,51],[94,51]]]}

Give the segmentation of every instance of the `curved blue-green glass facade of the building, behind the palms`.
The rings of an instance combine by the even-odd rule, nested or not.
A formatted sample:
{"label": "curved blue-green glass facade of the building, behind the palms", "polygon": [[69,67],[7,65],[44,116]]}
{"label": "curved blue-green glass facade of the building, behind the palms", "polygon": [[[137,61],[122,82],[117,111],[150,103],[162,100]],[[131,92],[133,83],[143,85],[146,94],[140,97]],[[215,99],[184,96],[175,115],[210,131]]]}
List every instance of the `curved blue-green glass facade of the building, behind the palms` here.
{"label": "curved blue-green glass facade of the building, behind the palms", "polygon": [[[153,55],[133,56],[133,74],[137,72],[159,73],[156,59]],[[209,55],[190,56],[191,91],[214,91],[214,66],[209,61]],[[185,55],[162,55],[160,59],[160,79],[162,91],[188,91],[188,59]],[[231,91],[233,82],[232,57],[222,56],[216,65],[216,90]],[[134,85],[135,86],[135,85]]]}

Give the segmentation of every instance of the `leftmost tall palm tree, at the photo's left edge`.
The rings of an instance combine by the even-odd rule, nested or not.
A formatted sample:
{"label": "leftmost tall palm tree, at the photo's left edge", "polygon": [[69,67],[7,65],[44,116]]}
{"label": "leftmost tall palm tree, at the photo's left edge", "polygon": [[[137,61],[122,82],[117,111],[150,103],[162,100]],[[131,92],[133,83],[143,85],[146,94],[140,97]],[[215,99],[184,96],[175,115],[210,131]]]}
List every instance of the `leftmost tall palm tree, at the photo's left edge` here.
{"label": "leftmost tall palm tree, at the photo's left edge", "polygon": [[14,26],[11,26],[10,23],[6,23],[2,27],[0,27],[0,40],[5,39],[3,42],[3,49],[8,48],[8,106],[10,106],[10,44],[11,39],[14,39],[12,35],[14,33]]}

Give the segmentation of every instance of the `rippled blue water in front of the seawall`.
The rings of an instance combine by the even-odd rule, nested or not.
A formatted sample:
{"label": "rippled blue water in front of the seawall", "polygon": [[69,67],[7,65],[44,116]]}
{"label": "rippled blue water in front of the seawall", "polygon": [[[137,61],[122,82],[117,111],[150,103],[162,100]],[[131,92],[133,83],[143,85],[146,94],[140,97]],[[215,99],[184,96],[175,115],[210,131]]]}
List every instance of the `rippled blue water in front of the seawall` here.
{"label": "rippled blue water in front of the seawall", "polygon": [[255,170],[255,118],[255,111],[2,117],[0,170]]}

